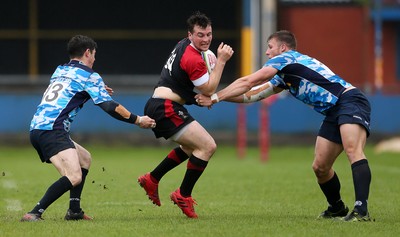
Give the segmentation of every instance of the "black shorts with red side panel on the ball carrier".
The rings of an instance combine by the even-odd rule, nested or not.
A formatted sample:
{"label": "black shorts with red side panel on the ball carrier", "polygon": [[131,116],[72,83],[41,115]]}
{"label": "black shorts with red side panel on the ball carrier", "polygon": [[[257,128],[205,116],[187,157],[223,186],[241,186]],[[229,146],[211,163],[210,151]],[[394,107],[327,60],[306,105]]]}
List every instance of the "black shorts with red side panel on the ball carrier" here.
{"label": "black shorts with red side panel on the ball carrier", "polygon": [[144,107],[144,114],[156,121],[157,126],[152,130],[157,138],[168,139],[194,121],[183,105],[160,98],[150,98]]}

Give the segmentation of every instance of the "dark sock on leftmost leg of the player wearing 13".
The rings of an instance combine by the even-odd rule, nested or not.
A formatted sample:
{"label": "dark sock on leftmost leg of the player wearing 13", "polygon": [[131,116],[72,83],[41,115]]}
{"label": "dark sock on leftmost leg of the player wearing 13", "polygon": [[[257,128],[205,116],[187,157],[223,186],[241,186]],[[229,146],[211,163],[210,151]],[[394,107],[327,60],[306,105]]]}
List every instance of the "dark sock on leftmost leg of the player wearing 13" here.
{"label": "dark sock on leftmost leg of the player wearing 13", "polygon": [[49,207],[54,201],[61,197],[65,192],[72,188],[72,183],[69,181],[67,176],[61,177],[59,180],[54,182],[46,191],[42,199],[36,204],[36,206],[29,213],[42,214],[47,207]]}

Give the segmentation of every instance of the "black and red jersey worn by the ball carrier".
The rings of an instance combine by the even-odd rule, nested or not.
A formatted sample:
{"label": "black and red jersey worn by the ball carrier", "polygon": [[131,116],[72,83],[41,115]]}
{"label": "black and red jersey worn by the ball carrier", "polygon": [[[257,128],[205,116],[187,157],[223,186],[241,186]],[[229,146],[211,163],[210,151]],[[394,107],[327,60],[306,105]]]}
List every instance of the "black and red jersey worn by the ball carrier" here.
{"label": "black and red jersey worn by the ball carrier", "polygon": [[164,86],[182,97],[187,105],[196,104],[193,91],[209,80],[207,66],[201,53],[190,45],[190,40],[181,40],[171,52],[157,87]]}

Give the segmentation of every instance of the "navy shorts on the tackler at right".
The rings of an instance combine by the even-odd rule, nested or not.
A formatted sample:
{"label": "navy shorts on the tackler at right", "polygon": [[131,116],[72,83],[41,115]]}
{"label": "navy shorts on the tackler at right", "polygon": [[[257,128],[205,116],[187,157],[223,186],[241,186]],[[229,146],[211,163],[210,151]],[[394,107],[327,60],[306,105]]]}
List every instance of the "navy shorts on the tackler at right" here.
{"label": "navy shorts on the tackler at right", "polygon": [[336,105],[326,112],[318,136],[342,144],[339,126],[360,124],[370,134],[371,106],[367,97],[357,88],[342,94]]}

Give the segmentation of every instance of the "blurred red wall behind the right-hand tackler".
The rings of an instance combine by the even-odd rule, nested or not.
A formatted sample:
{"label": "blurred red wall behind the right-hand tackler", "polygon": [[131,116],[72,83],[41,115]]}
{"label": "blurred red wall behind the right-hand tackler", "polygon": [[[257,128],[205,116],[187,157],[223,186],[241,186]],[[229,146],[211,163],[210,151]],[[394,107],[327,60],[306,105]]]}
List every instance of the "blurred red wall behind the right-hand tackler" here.
{"label": "blurred red wall behind the right-hand tackler", "polygon": [[[365,90],[374,86],[374,23],[358,6],[284,6],[278,29],[292,31],[298,50],[319,59],[335,73]],[[395,71],[395,32],[383,27],[385,90],[400,91]],[[389,87],[389,88],[386,88]]]}

